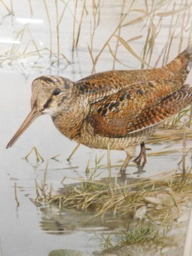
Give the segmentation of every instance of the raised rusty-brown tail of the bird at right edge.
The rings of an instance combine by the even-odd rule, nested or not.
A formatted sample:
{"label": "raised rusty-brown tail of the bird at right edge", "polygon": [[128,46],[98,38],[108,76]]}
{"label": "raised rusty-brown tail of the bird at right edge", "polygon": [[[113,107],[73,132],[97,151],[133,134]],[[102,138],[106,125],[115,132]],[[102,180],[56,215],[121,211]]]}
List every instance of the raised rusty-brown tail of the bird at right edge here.
{"label": "raised rusty-brown tail of the bird at right edge", "polygon": [[178,76],[184,82],[192,68],[192,45],[189,45],[172,62],[164,67],[172,75]]}

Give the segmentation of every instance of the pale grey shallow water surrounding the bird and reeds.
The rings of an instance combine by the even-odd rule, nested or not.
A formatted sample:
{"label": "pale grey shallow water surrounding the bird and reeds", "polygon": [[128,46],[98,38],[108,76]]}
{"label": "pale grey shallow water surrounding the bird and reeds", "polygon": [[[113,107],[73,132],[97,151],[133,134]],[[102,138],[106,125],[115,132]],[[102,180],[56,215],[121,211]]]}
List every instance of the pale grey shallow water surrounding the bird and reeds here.
{"label": "pale grey shallow water surrounding the bird and reeds", "polygon": [[[40,183],[44,179],[44,172],[46,167],[46,160],[49,159],[47,184],[53,184],[55,193],[63,185],[60,181],[64,176],[72,178],[89,178],[85,174],[86,164],[90,159],[90,168],[94,168],[95,156],[102,156],[101,164],[107,164],[107,153],[105,150],[96,150],[86,148],[80,145],[76,153],[73,155],[71,162],[66,159],[76,147],[76,143],[62,136],[57,129],[55,129],[51,118],[44,115],[39,118],[23,133],[20,139],[15,143],[11,149],[5,149],[7,143],[22,124],[24,118],[30,111],[30,84],[32,81],[41,75],[60,75],[66,76],[71,80],[78,80],[86,75],[91,74],[92,61],[90,58],[88,44],[90,45],[90,21],[91,26],[94,26],[94,21],[87,18],[82,26],[80,33],[79,44],[75,53],[71,52],[72,46],[72,25],[73,19],[70,10],[66,8],[64,18],[61,20],[59,26],[60,36],[60,52],[64,53],[70,64],[66,59],[60,60],[60,65],[57,65],[57,58],[55,56],[49,59],[49,52],[42,50],[42,55],[35,53],[30,55],[29,52],[35,51],[36,47],[39,50],[45,47],[50,48],[49,24],[45,11],[43,1],[31,1],[33,14],[31,14],[28,1],[13,1],[14,16],[8,15],[7,9],[1,3],[1,38],[15,40],[16,35],[21,29],[24,29],[24,34],[21,39],[20,49],[12,48],[8,53],[9,59],[1,62],[1,101],[0,101],[0,134],[1,134],[1,249],[2,256],[9,255],[48,255],[54,249],[77,249],[82,252],[92,253],[100,248],[99,242],[90,240],[94,235],[94,231],[98,235],[108,234],[123,224],[116,216],[106,216],[105,218],[96,218],[91,222],[85,222],[93,213],[88,211],[76,211],[74,209],[59,210],[57,207],[47,205],[35,205],[35,179]],[[57,2],[57,1],[56,1]],[[133,9],[144,9],[144,1],[135,1]],[[11,9],[11,2],[6,0],[4,3]],[[94,44],[92,53],[94,56],[101,50],[103,43],[107,41],[109,36],[114,32],[120,19],[121,3],[116,1],[113,5],[110,1],[103,1],[101,4],[101,20],[102,26],[96,29],[94,36]],[[22,6],[22,8],[21,8]],[[59,15],[61,15],[64,8],[63,2],[58,2]],[[80,6],[80,5],[79,5]],[[57,53],[57,33],[56,33],[56,10],[54,2],[47,2],[49,15],[52,25],[52,51]],[[74,8],[74,3],[69,2],[69,7]],[[78,19],[81,14],[81,9],[78,7]],[[89,15],[91,14],[91,1],[87,5]],[[128,3],[125,9],[127,10]],[[171,8],[171,7],[170,7]],[[54,10],[54,11],[53,11]],[[169,9],[168,9],[169,10]],[[159,9],[159,12],[164,9]],[[126,17],[125,23],[139,17],[139,13],[134,11]],[[29,30],[22,23],[16,19],[33,18],[42,19],[44,23],[28,24]],[[106,22],[107,20],[107,22]],[[153,51],[152,62],[156,61],[159,56],[162,44],[167,40],[168,25],[170,19],[167,19],[167,24],[162,26],[162,32],[159,35],[159,41],[156,44],[155,51]],[[128,34],[127,40],[134,36],[147,33],[147,27],[144,27],[145,21],[138,23],[134,28],[122,28],[122,34]],[[76,25],[77,26],[77,25]],[[30,33],[29,33],[30,32]],[[77,32],[77,27],[76,27]],[[19,34],[20,35],[20,34]],[[18,36],[19,38],[19,36]],[[33,42],[35,41],[35,44]],[[174,44],[177,45],[179,39],[175,39]],[[187,45],[187,35],[183,35],[183,46]],[[29,43],[29,45],[28,45]],[[185,43],[185,44],[184,44]],[[13,44],[0,42],[0,55],[4,55],[10,51]],[[27,47],[26,56],[19,56]],[[116,40],[110,42],[110,46],[116,45]],[[138,41],[133,41],[131,46],[135,51],[140,52],[140,47],[144,45],[144,37]],[[18,45],[14,45],[17,47]],[[46,53],[46,54],[45,54]],[[170,60],[176,57],[174,48],[170,52]],[[7,56],[8,56],[7,55]],[[13,57],[15,59],[13,59]],[[125,48],[118,52],[118,58],[122,63],[130,65],[132,68],[140,69],[141,63],[138,59],[133,58]],[[54,62],[50,65],[50,62]],[[159,63],[160,66],[160,63]],[[104,50],[103,54],[98,60],[96,71],[110,70],[113,67],[113,58],[108,49]],[[127,69],[126,66],[120,63],[115,64],[115,69]],[[191,75],[190,75],[191,77]],[[190,81],[190,78],[188,78]],[[190,147],[191,142],[187,142],[187,147]],[[149,145],[152,152],[164,150],[167,146],[172,145],[171,149],[182,148],[182,141],[178,143],[163,143]],[[44,162],[36,162],[34,152],[28,157],[28,160],[23,158],[28,154],[32,147],[36,147],[39,153],[44,157]],[[139,153],[139,148],[137,149]],[[51,157],[61,154],[56,160]],[[126,154],[122,151],[111,151],[112,166],[121,164],[125,160]],[[181,153],[163,156],[150,156],[148,162],[142,169],[135,165],[129,166],[127,169],[128,177],[130,178],[145,178],[162,172],[174,170],[178,168],[178,162],[182,158]],[[191,161],[187,157],[186,165],[190,166]],[[67,167],[76,167],[71,169],[64,169]],[[78,167],[78,168],[77,168]],[[63,168],[63,169],[62,169]],[[112,176],[118,174],[120,168],[112,167]],[[108,175],[107,168],[100,169],[100,177]],[[17,185],[17,197],[20,205],[17,207],[14,199],[14,183]],[[65,184],[73,183],[72,179],[65,179]],[[114,222],[110,222],[114,220]],[[118,224],[117,224],[118,223]]]}

